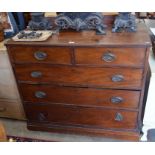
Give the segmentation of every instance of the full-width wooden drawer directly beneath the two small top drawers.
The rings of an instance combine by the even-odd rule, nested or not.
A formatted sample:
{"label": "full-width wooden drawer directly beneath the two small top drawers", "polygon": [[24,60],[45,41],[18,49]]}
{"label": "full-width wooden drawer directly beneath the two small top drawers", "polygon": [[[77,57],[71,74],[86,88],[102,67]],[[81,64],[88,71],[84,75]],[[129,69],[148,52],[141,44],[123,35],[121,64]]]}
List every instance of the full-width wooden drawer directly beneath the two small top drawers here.
{"label": "full-width wooden drawer directly beneath the two small top drawers", "polygon": [[67,86],[141,89],[141,69],[87,68],[50,65],[16,65],[20,81],[43,82]]}

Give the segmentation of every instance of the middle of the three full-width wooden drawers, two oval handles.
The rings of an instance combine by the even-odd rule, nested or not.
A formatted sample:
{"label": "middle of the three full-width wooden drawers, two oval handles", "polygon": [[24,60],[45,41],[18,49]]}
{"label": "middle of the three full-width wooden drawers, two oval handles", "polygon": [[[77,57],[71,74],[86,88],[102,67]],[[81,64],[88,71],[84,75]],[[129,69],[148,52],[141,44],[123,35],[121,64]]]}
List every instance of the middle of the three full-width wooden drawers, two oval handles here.
{"label": "middle of the three full-width wooden drawers, two oval handles", "polygon": [[60,103],[79,106],[138,108],[140,91],[56,87],[20,84],[23,100],[37,103]]}

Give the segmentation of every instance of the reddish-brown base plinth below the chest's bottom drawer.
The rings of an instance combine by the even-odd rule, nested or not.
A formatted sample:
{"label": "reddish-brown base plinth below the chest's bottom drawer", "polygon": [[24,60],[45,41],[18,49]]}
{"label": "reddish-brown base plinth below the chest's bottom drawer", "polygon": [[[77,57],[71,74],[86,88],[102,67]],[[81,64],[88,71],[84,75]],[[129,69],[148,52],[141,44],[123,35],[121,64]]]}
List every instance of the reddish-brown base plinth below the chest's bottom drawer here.
{"label": "reddish-brown base plinth below the chest's bottom drawer", "polygon": [[[69,133],[69,134],[81,134],[88,136],[98,136],[98,137],[110,137],[123,139],[125,141],[139,141],[139,137],[141,136],[137,131],[125,131],[125,130],[107,130],[100,128],[90,128],[90,127],[78,127],[78,126],[69,126],[69,125],[56,125],[49,123],[39,123],[39,122],[28,122],[27,128],[29,130],[35,131],[49,131],[56,133]],[[76,140],[75,140],[76,141]]]}

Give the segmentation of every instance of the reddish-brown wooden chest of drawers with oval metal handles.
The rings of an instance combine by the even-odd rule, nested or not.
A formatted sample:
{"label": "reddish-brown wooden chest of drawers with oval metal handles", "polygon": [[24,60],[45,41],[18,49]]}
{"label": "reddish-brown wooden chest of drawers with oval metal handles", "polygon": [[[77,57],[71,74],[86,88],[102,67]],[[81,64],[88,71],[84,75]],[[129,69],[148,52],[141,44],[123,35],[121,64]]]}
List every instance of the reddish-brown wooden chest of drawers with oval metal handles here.
{"label": "reddish-brown wooden chest of drawers with oval metal handles", "polygon": [[6,45],[28,129],[139,139],[151,46],[144,25]]}

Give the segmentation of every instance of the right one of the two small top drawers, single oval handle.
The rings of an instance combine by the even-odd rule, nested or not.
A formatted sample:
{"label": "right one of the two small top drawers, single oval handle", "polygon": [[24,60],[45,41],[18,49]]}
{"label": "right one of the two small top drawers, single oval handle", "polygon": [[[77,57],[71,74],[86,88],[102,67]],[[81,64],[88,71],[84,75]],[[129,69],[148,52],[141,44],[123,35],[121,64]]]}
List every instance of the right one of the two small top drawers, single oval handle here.
{"label": "right one of the two small top drawers, single oval handle", "polygon": [[145,48],[76,48],[75,61],[84,65],[142,67]]}

